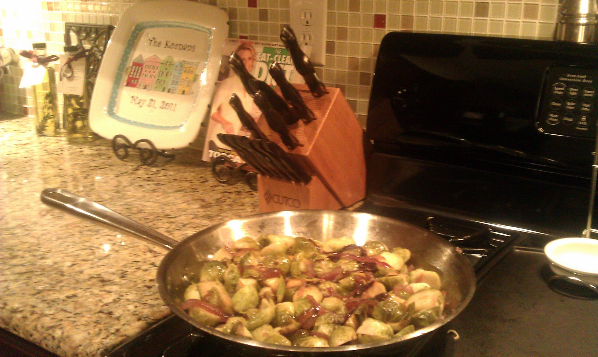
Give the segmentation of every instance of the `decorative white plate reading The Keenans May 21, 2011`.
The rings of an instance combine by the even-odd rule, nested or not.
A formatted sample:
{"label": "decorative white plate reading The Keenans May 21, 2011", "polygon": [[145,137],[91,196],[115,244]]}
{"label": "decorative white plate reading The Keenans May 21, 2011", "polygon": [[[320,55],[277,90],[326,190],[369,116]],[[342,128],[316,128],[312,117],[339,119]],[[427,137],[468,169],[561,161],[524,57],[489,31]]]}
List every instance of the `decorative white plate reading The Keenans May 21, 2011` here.
{"label": "decorative white plate reading The Keenans May 21, 2011", "polygon": [[183,0],[147,1],[123,14],[91,98],[91,130],[106,139],[188,146],[212,100],[228,14]]}

